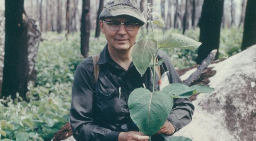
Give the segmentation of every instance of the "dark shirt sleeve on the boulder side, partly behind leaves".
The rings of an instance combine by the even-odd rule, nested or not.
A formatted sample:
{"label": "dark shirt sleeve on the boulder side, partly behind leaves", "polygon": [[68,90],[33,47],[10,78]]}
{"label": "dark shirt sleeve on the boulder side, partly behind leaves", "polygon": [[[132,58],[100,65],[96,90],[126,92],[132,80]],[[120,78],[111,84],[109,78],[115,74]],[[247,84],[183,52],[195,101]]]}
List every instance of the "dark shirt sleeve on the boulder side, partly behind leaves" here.
{"label": "dark shirt sleeve on the boulder side, partly behind leaves", "polygon": [[[168,78],[171,83],[182,83],[180,76],[175,70],[173,64],[171,63],[168,55],[163,53],[164,63],[161,65],[161,74],[169,71]],[[162,72],[163,71],[163,72]],[[175,132],[179,131],[181,128],[189,124],[192,120],[192,115],[194,113],[194,105],[189,98],[173,98],[174,105],[167,118],[175,128]]]}

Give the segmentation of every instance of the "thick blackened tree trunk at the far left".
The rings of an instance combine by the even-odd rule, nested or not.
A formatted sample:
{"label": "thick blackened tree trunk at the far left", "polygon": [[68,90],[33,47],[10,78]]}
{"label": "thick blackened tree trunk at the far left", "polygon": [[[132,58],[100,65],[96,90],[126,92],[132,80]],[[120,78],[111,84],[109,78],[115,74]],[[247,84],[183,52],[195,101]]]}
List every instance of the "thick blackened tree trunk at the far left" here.
{"label": "thick blackened tree trunk at the far left", "polygon": [[16,93],[19,93],[23,100],[27,100],[28,39],[27,25],[22,20],[23,12],[24,0],[5,1],[6,40],[1,98],[11,96],[15,99]]}

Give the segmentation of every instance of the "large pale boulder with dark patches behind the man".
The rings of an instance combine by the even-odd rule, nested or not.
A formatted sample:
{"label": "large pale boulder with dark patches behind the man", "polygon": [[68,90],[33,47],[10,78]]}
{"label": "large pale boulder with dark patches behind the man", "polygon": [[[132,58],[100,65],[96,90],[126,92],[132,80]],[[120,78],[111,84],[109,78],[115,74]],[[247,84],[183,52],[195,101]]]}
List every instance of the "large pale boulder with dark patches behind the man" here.
{"label": "large pale boulder with dark patches behind the man", "polygon": [[[193,101],[192,122],[174,136],[193,141],[254,141],[256,139],[256,45],[209,65],[211,94]],[[192,73],[193,71],[190,71]],[[189,76],[187,72],[184,76]],[[183,80],[187,77],[181,76]]]}

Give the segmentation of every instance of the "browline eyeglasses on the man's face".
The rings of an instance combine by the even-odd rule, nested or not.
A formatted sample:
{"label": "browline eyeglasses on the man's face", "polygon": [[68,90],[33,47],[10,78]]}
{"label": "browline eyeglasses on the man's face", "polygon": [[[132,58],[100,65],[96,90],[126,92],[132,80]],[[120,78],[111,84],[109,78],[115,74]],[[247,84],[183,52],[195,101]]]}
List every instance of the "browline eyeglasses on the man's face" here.
{"label": "browline eyeglasses on the man's face", "polygon": [[120,29],[121,24],[124,24],[125,29],[127,31],[132,31],[135,29],[136,26],[138,26],[138,23],[129,22],[129,21],[128,22],[106,21],[106,20],[102,20],[102,21],[106,22],[109,25],[109,28],[115,31]]}

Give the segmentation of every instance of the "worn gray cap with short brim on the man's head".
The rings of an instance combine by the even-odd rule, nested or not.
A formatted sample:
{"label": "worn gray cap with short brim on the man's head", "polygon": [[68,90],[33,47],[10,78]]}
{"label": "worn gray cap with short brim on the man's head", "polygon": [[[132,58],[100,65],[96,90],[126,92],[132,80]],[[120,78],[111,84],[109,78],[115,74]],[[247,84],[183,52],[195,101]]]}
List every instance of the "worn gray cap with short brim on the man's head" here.
{"label": "worn gray cap with short brim on the man's head", "polygon": [[129,15],[138,20],[139,25],[143,25],[139,6],[135,0],[110,0],[100,13],[100,20],[119,15]]}

